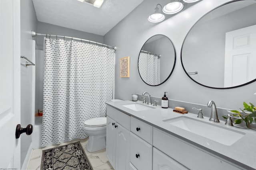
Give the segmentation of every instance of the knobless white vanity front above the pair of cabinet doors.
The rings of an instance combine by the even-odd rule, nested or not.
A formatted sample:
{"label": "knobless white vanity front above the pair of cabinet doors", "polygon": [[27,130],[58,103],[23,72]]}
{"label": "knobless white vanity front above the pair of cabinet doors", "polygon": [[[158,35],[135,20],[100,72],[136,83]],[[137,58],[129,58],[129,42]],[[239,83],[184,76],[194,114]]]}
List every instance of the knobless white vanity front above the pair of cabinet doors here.
{"label": "knobless white vanity front above the pair of cabinet doors", "polygon": [[107,105],[107,115],[130,131],[130,116]]}

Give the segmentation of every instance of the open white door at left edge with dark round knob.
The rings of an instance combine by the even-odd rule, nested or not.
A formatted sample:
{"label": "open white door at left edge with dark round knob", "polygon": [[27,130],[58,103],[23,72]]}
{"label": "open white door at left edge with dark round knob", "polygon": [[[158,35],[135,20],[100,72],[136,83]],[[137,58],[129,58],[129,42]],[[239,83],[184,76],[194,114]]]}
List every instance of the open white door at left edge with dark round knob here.
{"label": "open white door at left edge with dark round knob", "polygon": [[0,168],[20,169],[20,0],[0,0]]}

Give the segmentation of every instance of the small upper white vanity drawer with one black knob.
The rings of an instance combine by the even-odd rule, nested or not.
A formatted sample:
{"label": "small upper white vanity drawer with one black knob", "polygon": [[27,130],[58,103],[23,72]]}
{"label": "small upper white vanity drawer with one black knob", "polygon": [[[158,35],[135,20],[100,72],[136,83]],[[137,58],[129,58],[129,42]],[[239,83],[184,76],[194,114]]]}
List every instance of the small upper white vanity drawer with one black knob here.
{"label": "small upper white vanity drawer with one black knob", "polygon": [[131,132],[136,134],[138,137],[141,137],[146,142],[152,145],[153,143],[153,127],[140,121],[134,117],[131,117]]}

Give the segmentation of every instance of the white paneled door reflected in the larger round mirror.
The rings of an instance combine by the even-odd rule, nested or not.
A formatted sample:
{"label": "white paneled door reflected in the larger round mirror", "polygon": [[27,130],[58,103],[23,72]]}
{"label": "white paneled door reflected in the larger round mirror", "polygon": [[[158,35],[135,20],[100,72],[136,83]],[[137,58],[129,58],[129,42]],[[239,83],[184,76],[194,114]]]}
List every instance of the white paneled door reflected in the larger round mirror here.
{"label": "white paneled door reflected in the larger round mirror", "polygon": [[256,25],[226,33],[224,87],[252,81],[256,63]]}

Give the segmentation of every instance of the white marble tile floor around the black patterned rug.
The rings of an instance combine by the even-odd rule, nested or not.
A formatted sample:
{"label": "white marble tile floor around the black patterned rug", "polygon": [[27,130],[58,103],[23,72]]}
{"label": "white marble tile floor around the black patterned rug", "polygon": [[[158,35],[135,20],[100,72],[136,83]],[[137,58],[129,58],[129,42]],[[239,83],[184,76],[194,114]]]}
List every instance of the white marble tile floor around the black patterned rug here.
{"label": "white marble tile floor around the black patterned rug", "polygon": [[64,142],[58,145],[52,145],[49,147],[44,147],[40,149],[34,149],[31,153],[30,160],[28,162],[27,170],[40,170],[41,160],[42,160],[42,150],[50,149],[53,147],[58,147],[62,145],[66,145],[69,143],[80,141],[84,151],[89,158],[89,161],[92,165],[93,170],[114,170],[111,164],[108,162],[108,158],[106,156],[106,149],[99,150],[97,152],[88,152],[86,150],[86,145],[88,143],[88,137],[85,139],[76,139],[73,141]]}

